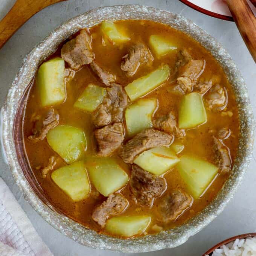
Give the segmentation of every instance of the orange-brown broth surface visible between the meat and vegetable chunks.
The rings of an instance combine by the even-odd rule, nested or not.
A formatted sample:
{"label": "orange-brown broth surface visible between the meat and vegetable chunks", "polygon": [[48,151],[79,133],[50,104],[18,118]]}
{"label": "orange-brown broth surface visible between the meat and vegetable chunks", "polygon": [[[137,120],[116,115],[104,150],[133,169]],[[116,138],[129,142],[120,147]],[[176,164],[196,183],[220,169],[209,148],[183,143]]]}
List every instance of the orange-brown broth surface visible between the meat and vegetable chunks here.
{"label": "orange-brown broth surface visible between the meat and vegetable chunks", "polygon": [[[194,59],[204,59],[206,66],[204,72],[200,76],[200,80],[209,80],[213,75],[216,75],[220,78],[219,84],[226,88],[228,94],[228,104],[225,108],[225,112],[232,112],[232,116],[223,116],[222,112],[213,112],[206,110],[207,112],[207,122],[203,125],[200,125],[196,128],[186,130],[186,136],[181,139],[175,139],[175,141],[180,141],[184,145],[184,150],[179,154],[193,154],[198,157],[205,159],[213,163],[212,155],[212,138],[209,134],[209,130],[220,130],[223,127],[228,127],[231,130],[231,135],[228,139],[225,140],[225,145],[230,150],[230,156],[232,162],[235,159],[237,146],[238,146],[238,136],[239,136],[239,120],[238,120],[238,110],[236,107],[235,96],[232,91],[232,88],[227,81],[224,71],[216,62],[216,60],[207,52],[203,46],[194,41],[192,38],[189,38],[187,35],[183,34],[180,31],[177,31],[169,26],[154,23],[151,21],[117,21],[115,24],[118,24],[119,28],[122,31],[125,31],[127,35],[130,36],[131,40],[128,43],[124,43],[121,46],[117,44],[108,44],[107,46],[102,45],[102,32],[100,26],[94,26],[90,28],[90,33],[92,35],[92,49],[95,54],[96,62],[103,68],[110,70],[117,77],[117,83],[123,85],[123,87],[134,79],[140,78],[148,74],[149,72],[157,69],[162,63],[169,65],[171,70],[175,65],[177,60],[177,51],[173,51],[162,58],[156,58],[154,56],[154,61],[152,65],[141,65],[137,70],[136,74],[132,77],[127,77],[125,72],[120,69],[120,62],[122,57],[127,53],[129,47],[138,41],[143,41],[148,46],[149,36],[152,34],[162,35],[166,38],[170,38],[179,49],[187,49]],[[56,51],[50,58],[55,56],[60,56],[60,49]],[[67,64],[67,63],[66,63]],[[67,65],[68,67],[68,65]],[[87,139],[87,151],[81,158],[86,158],[91,155],[96,154],[96,143],[93,136],[95,127],[91,121],[91,114],[85,113],[81,110],[78,110],[73,107],[76,99],[81,95],[82,91],[88,84],[95,84],[104,87],[99,79],[94,75],[88,65],[83,66],[81,69],[75,72],[73,79],[70,79],[66,84],[67,98],[63,104],[55,105],[54,109],[59,113],[59,124],[60,125],[71,125],[77,128],[82,129],[85,132]],[[171,110],[174,113],[178,113],[178,107],[180,105],[181,97],[180,95],[174,94],[171,91],[175,85],[175,81],[171,81],[171,78],[165,82],[161,87],[147,94],[143,98],[157,98],[158,99],[158,108],[155,112],[155,117],[168,114]],[[96,198],[89,196],[88,198],[74,202],[69,198],[52,180],[50,174],[46,178],[42,178],[41,168],[47,165],[49,157],[52,155],[58,154],[54,152],[47,143],[47,140],[39,141],[37,143],[28,139],[31,135],[34,128],[34,123],[32,119],[35,113],[40,113],[45,115],[48,108],[42,108],[40,103],[40,97],[37,90],[36,82],[32,85],[32,88],[29,93],[29,98],[27,100],[26,111],[24,114],[24,123],[23,123],[23,139],[26,149],[26,155],[29,160],[31,171],[34,172],[35,177],[37,178],[38,183],[44,191],[44,194],[49,199],[50,203],[60,210],[65,215],[74,219],[75,221],[81,223],[83,226],[90,229],[96,230],[97,232],[103,232],[100,226],[91,219],[91,213],[94,208],[106,200],[106,198],[101,195]],[[126,135],[125,140],[129,139]],[[126,164],[122,159],[117,155],[113,154],[117,159],[120,166],[125,169],[125,171],[130,176],[131,174],[131,165]],[[67,163],[58,157],[57,164],[54,168],[58,169],[61,166],[65,166]],[[232,163],[233,166],[233,163]],[[176,187],[181,187],[187,191],[186,184],[180,177],[178,170],[174,167],[170,171],[166,172],[163,177],[166,178],[168,187],[164,195],[170,192]],[[152,226],[157,224],[163,229],[170,229],[182,224],[187,219],[195,216],[198,212],[204,209],[212,200],[215,198],[219,189],[221,189],[223,183],[229,177],[228,174],[218,174],[213,183],[209,186],[206,192],[199,198],[194,199],[192,206],[186,210],[176,221],[172,221],[168,224],[163,223],[158,218],[158,203],[161,200],[161,197],[156,198],[154,205],[149,208],[136,204],[133,200],[130,188],[127,185],[121,189],[122,195],[124,195],[130,205],[126,209],[126,215],[150,215],[152,218],[151,224],[146,230],[148,234],[154,234],[156,231],[152,229]],[[95,188],[92,186],[91,193],[95,192]]]}

